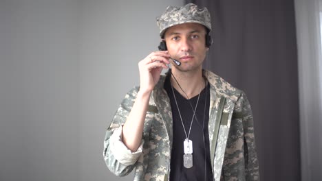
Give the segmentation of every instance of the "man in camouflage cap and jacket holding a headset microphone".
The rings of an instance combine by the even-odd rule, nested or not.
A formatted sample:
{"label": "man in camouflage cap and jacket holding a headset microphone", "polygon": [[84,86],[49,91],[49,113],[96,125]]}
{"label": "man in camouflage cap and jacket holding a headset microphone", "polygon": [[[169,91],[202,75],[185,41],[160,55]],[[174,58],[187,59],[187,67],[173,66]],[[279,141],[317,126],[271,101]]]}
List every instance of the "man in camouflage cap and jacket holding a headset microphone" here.
{"label": "man in camouflage cap and jacket holding a headset microphone", "polygon": [[259,180],[246,95],[202,69],[211,45],[208,10],[170,6],[157,21],[163,51],[139,62],[140,87],[107,129],[107,167],[117,176],[135,169],[134,180]]}

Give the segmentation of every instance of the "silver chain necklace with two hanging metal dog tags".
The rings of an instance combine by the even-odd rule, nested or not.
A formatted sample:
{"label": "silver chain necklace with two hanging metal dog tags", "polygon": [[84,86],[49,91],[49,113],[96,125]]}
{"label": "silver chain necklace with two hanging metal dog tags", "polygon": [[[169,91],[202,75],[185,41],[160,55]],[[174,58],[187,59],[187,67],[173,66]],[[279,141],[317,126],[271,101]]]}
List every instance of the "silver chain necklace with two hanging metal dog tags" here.
{"label": "silver chain necklace with two hanging metal dog tags", "polygon": [[[175,93],[174,93],[174,90],[173,90],[173,86],[171,86],[171,88],[172,88],[173,97],[175,98]],[[197,110],[200,93],[201,93],[201,90],[200,90],[199,95],[198,95],[197,104],[195,104],[195,110]],[[189,97],[187,97],[187,98],[189,99]],[[181,123],[182,123],[182,127],[184,129],[184,134],[186,134],[186,129],[184,128],[184,123],[182,121],[181,112],[180,112],[180,109],[179,109],[178,102],[177,102],[176,98],[175,98],[175,105],[178,108],[180,120],[181,120]],[[186,167],[187,169],[190,169],[191,167],[193,167],[193,155],[192,155],[192,153],[193,153],[193,142],[191,140],[189,140],[189,136],[190,136],[191,126],[192,126],[192,123],[193,123],[193,120],[194,120],[193,118],[195,117],[195,110],[193,110],[193,117],[191,119],[189,132],[188,132],[188,134],[186,134],[186,139],[184,140],[183,163],[184,163],[184,167]]]}

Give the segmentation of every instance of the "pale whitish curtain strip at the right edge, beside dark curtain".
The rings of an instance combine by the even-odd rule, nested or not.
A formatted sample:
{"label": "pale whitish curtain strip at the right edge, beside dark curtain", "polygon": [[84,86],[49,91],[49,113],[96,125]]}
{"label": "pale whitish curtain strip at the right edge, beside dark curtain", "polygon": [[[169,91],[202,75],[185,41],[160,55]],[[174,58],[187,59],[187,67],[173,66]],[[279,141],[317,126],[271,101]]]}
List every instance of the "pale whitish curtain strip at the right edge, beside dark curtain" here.
{"label": "pale whitish curtain strip at the right edge, beside dark curtain", "polygon": [[321,0],[295,0],[302,180],[322,180]]}

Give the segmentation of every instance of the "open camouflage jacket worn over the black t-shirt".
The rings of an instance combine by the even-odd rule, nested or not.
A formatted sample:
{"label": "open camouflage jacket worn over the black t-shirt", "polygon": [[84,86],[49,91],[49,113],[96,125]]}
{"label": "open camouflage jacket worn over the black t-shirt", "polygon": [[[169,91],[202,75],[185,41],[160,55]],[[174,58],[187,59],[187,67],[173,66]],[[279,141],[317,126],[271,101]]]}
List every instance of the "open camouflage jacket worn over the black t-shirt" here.
{"label": "open camouflage jacket worn over the black t-shirt", "polygon": [[[259,180],[253,115],[246,95],[214,73],[204,74],[211,84],[208,130],[214,180]],[[162,75],[151,94],[137,152],[127,149],[121,136],[138,87],[127,93],[111,121],[103,156],[116,176],[134,169],[134,180],[169,180],[173,128],[164,80]]]}

